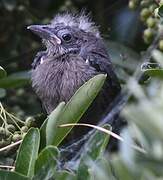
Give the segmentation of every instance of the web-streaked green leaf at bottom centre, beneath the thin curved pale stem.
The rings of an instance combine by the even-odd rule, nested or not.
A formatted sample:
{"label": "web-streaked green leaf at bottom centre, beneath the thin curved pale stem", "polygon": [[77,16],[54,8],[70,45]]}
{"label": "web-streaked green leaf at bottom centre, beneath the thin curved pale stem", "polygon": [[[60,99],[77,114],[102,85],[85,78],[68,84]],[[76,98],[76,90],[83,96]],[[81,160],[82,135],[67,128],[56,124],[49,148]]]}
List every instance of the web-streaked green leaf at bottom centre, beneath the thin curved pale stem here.
{"label": "web-streaked green leaf at bottom centre, beneath the thin curved pale stem", "polygon": [[[109,125],[105,125],[104,128],[107,128],[109,130],[111,129]],[[103,155],[106,149],[108,141],[109,135],[97,130],[90,137],[81,155],[81,160],[78,168],[79,180],[82,180],[83,176],[85,177],[85,179],[90,179],[89,170],[91,169],[91,167],[89,167],[88,165],[89,160],[95,161],[96,159],[100,158],[100,156]]]}

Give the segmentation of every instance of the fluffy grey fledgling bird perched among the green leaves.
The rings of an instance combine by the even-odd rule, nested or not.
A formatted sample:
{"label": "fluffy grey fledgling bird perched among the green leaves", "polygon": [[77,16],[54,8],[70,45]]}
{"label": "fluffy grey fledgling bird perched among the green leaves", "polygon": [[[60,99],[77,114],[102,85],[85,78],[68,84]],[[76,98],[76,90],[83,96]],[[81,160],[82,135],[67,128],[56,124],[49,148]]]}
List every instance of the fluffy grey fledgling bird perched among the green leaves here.
{"label": "fluffy grey fledgling bird perched among the green leaves", "polygon": [[82,121],[97,123],[120,92],[98,28],[86,15],[57,15],[50,24],[31,25],[46,46],[32,64],[32,86],[47,113],[97,74],[107,74],[103,89]]}

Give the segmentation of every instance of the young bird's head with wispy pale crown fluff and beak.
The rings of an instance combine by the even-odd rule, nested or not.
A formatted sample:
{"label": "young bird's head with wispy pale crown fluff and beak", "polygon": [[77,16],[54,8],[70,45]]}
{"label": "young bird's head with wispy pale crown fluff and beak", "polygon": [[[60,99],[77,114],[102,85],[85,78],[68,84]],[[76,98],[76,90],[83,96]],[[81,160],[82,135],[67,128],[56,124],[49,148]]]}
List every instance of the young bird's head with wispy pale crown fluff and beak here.
{"label": "young bird's head with wispy pale crown fluff and beak", "polygon": [[86,44],[100,38],[98,28],[83,14],[57,15],[50,24],[31,25],[28,29],[42,38],[49,56],[79,53]]}

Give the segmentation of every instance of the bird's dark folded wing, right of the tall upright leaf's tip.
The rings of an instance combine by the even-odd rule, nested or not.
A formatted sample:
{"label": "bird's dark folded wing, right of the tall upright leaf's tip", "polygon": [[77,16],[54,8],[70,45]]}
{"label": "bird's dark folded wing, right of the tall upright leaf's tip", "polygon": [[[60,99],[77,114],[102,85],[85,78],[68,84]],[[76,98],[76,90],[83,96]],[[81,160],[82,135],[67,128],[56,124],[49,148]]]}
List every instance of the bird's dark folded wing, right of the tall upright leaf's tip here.
{"label": "bird's dark folded wing, right of the tall upright leaf's tip", "polygon": [[[100,119],[98,120],[101,120],[102,116],[104,117],[106,114],[108,114],[115,106],[116,99],[121,92],[120,83],[108,56],[91,53],[89,56],[87,56],[87,58],[83,57],[83,59],[88,61],[90,66],[94,67],[98,73],[107,74],[103,88],[94,100],[92,106],[89,108],[89,111],[93,112],[92,114],[94,114],[94,119],[98,119],[98,116],[100,116]],[[94,109],[96,109],[97,112],[95,112]],[[98,121],[95,123],[97,122]]]}

